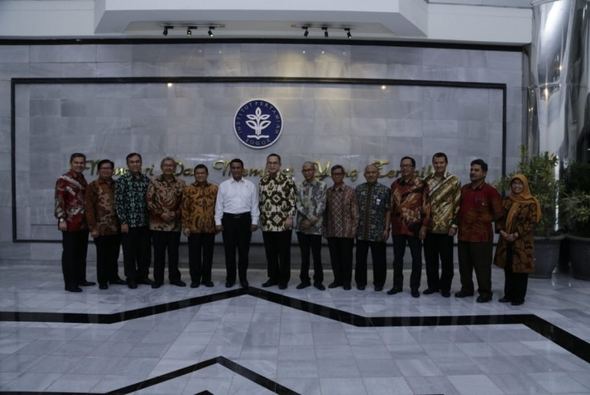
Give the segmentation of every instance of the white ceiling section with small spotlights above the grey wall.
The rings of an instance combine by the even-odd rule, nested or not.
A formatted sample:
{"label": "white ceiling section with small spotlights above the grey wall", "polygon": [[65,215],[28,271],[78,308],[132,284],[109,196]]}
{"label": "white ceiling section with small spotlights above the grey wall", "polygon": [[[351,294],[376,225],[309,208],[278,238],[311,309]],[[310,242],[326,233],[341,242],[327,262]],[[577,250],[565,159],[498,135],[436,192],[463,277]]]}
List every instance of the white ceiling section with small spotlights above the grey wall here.
{"label": "white ceiling section with small spotlights above the grey wall", "polygon": [[[433,40],[530,43],[530,0],[0,0],[0,39]],[[186,26],[198,26],[186,36]],[[328,28],[324,38],[322,27]]]}

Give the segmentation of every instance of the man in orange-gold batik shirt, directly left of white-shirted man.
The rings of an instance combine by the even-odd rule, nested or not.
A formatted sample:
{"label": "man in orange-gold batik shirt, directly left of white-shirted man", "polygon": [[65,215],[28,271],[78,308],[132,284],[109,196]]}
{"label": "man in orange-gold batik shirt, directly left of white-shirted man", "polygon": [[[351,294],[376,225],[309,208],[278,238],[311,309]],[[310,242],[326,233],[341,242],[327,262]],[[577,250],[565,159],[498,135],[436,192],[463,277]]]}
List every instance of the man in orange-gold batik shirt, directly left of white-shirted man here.
{"label": "man in orange-gold batik shirt, directly left of white-shirted man", "polygon": [[188,237],[188,269],[191,288],[212,287],[213,244],[215,242],[215,200],[218,186],[208,182],[209,169],[195,166],[195,182],[184,188],[182,197],[183,232]]}

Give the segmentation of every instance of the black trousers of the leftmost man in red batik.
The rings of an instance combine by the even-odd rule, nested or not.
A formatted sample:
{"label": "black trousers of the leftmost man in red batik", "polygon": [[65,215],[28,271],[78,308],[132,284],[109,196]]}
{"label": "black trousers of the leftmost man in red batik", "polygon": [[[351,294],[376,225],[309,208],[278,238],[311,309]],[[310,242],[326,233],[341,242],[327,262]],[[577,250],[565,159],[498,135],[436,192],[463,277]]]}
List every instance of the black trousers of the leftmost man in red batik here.
{"label": "black trousers of the leftmost man in red batik", "polygon": [[65,288],[74,288],[86,281],[88,231],[61,232],[61,270]]}

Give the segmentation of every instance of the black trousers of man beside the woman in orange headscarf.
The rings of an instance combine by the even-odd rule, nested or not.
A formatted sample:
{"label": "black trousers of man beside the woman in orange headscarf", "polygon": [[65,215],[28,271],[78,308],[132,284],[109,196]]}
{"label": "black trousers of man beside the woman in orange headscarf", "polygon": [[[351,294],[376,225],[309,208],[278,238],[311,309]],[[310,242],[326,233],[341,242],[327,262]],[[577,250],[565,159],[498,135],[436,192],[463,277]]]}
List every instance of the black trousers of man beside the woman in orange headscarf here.
{"label": "black trousers of man beside the woman in orange headscarf", "polygon": [[492,296],[492,243],[458,242],[461,291],[473,293],[473,270],[476,271],[478,293]]}

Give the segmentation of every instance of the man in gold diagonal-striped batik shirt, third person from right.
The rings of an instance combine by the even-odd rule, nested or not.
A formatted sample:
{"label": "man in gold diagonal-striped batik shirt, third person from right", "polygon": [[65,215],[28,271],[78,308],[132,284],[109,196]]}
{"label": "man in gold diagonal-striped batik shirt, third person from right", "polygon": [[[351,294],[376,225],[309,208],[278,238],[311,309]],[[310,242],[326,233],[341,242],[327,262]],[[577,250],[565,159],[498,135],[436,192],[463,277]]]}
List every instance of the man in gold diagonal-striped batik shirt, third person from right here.
{"label": "man in gold diagonal-striped batik shirt, third person from right", "polygon": [[454,276],[453,243],[461,202],[461,181],[456,175],[446,171],[448,163],[444,153],[435,153],[432,156],[434,173],[424,178],[430,196],[430,222],[424,239],[428,288],[422,293],[429,295],[440,291],[444,298],[451,296],[451,282]]}

